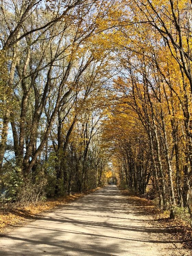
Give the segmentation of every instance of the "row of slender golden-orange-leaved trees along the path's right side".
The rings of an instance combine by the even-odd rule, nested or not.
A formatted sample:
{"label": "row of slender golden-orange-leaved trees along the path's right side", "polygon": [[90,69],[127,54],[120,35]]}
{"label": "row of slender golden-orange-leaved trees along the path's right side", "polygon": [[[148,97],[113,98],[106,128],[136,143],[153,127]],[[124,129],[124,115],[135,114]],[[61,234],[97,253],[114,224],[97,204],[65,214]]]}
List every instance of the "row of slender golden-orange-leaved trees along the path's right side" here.
{"label": "row of slender golden-orange-leaved trees along the path's right side", "polygon": [[161,209],[171,218],[188,209],[192,220],[191,2],[123,4],[114,36],[122,69],[104,137],[121,184],[144,194],[150,181]]}

